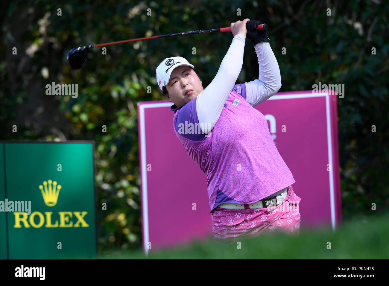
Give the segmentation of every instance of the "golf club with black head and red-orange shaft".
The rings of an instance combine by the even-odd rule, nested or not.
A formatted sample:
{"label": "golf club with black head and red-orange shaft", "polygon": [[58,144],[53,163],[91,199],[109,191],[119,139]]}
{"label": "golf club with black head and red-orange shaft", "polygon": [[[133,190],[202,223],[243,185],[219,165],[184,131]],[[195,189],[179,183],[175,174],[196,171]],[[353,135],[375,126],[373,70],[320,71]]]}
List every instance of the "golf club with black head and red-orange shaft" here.
{"label": "golf club with black head and red-orange shaft", "polygon": [[[266,30],[266,29],[267,29],[266,24],[258,25],[256,28],[256,30]],[[178,35],[212,33],[212,32],[231,32],[231,28],[230,27],[228,27],[228,28],[216,28],[216,29],[210,29],[210,30],[198,30],[198,31],[190,31],[190,32],[182,32],[182,33],[173,33],[173,34],[166,34],[166,35],[159,35],[159,36],[151,36],[151,37],[123,40],[123,41],[117,41],[117,42],[103,43],[103,44],[97,44],[97,45],[75,47],[69,51],[69,53],[67,55],[67,61],[68,61],[68,65],[70,68],[72,68],[74,70],[78,70],[85,65],[86,56],[88,55],[88,49],[91,47],[102,47],[102,46],[122,44],[122,43],[127,43],[127,42],[135,42],[135,41],[140,41],[140,40],[149,40],[149,39],[172,37],[172,36],[178,36]]]}

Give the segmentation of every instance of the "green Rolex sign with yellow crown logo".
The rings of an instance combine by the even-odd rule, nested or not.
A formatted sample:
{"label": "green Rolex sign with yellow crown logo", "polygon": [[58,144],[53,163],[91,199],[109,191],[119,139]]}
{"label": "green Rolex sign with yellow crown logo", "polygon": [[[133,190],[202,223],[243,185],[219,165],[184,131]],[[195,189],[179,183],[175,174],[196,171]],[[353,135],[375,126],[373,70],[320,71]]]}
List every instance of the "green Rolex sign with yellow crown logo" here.
{"label": "green Rolex sign with yellow crown logo", "polygon": [[97,254],[94,142],[0,142],[0,259]]}

